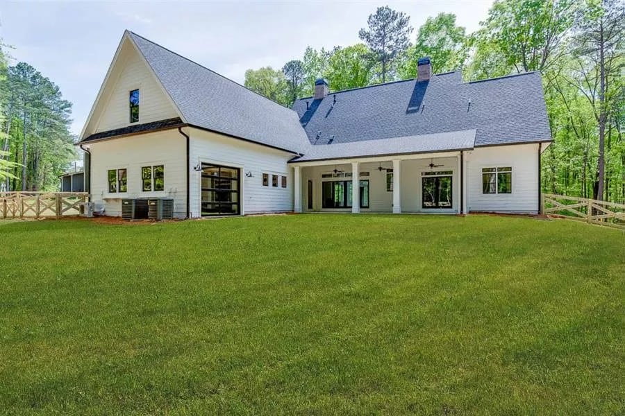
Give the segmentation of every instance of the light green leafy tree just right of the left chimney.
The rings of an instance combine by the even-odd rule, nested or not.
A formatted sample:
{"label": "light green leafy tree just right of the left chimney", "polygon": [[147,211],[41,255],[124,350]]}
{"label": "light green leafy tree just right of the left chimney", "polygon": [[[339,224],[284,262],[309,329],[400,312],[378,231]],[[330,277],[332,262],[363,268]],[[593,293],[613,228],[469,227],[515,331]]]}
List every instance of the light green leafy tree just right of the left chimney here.
{"label": "light green leafy tree just right of the left chimney", "polygon": [[366,87],[372,83],[375,63],[365,44],[336,46],[328,60],[324,77],[335,90]]}

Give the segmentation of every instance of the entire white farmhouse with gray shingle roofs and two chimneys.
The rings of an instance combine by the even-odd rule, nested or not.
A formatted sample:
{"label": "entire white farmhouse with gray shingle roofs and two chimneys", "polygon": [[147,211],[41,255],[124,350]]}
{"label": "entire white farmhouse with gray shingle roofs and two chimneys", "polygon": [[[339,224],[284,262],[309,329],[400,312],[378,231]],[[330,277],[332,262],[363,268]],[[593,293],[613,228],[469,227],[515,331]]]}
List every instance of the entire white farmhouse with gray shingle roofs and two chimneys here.
{"label": "entire white farmhouse with gray shingle roofs and two chimneys", "polygon": [[[540,76],[458,72],[329,92],[288,109],[126,31],[81,133],[97,211],[174,216],[540,210]],[[358,203],[354,203],[358,201]]]}

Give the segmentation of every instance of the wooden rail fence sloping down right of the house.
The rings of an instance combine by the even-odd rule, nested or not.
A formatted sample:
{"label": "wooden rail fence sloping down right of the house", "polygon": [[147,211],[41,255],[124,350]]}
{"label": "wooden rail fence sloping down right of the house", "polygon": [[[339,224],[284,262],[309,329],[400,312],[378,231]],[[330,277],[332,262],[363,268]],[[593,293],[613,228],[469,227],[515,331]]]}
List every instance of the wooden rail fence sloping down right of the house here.
{"label": "wooden rail fence sloping down right of the house", "polygon": [[543,193],[542,212],[549,216],[625,229],[625,204],[616,202]]}

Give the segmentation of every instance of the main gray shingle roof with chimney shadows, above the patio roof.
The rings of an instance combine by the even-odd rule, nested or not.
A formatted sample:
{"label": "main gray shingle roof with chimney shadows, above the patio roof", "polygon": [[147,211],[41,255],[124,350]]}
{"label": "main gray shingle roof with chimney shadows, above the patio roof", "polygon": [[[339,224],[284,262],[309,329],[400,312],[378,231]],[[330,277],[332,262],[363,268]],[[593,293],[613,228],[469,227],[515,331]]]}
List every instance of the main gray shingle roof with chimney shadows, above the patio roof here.
{"label": "main gray shingle roof with chimney shadows, above the patio roof", "polygon": [[323,100],[302,98],[293,110],[311,144],[327,144],[332,136],[333,144],[341,144],[460,130],[476,130],[475,146],[551,139],[538,73],[462,83],[456,71],[428,82],[405,80],[330,93]]}

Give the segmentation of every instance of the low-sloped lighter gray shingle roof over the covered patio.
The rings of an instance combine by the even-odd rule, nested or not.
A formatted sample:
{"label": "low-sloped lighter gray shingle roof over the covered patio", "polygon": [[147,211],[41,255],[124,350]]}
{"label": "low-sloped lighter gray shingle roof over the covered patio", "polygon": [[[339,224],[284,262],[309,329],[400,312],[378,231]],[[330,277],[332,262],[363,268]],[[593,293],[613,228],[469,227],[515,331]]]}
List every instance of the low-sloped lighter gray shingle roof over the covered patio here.
{"label": "low-sloped lighter gray shingle roof over the covered patio", "polygon": [[308,150],[306,155],[292,159],[292,162],[408,153],[435,153],[446,150],[469,150],[474,148],[475,133],[475,130],[463,130],[434,133],[432,135],[319,144],[310,146],[310,150]]}

